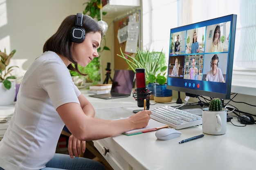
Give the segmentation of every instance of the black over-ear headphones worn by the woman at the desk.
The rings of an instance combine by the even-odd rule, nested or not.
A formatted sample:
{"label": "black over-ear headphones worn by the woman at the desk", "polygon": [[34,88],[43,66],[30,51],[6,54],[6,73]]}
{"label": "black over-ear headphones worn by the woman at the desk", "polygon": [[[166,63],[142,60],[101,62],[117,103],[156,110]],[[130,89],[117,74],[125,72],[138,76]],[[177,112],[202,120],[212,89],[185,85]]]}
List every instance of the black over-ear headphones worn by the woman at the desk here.
{"label": "black over-ear headphones worn by the woman at the desk", "polygon": [[85,39],[85,29],[82,27],[83,14],[76,14],[76,25],[70,30],[70,38],[72,42],[81,43]]}

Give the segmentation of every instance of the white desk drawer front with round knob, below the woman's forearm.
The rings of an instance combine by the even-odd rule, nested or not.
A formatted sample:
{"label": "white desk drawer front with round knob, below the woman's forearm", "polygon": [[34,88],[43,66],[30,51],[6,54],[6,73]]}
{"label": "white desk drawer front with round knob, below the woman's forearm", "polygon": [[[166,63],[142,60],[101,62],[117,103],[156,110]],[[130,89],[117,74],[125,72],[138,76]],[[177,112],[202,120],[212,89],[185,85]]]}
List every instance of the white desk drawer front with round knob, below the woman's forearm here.
{"label": "white desk drawer front with round knob, below the woman's forearm", "polygon": [[[106,139],[93,141],[93,143],[95,148],[99,150],[101,155],[106,159],[106,161],[108,161],[114,170],[129,170],[129,164],[117,153],[117,151],[113,149],[112,146],[110,146],[110,142],[108,140],[112,140],[112,138],[109,137]],[[106,155],[103,154],[103,150],[105,148],[108,149]]]}

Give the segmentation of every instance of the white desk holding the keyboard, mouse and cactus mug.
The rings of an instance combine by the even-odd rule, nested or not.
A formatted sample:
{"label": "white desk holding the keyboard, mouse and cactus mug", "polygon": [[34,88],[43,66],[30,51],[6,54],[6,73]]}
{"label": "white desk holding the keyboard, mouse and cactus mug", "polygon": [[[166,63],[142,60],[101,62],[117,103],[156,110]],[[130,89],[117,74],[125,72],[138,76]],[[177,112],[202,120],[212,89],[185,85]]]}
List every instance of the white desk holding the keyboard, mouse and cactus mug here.
{"label": "white desk holding the keyboard, mouse and cactus mug", "polygon": [[[81,91],[88,96],[86,91]],[[128,117],[133,114],[131,110],[139,109],[133,97],[88,99],[96,109],[96,116],[103,119]],[[151,105],[150,108],[157,106],[159,105]],[[10,115],[13,109],[13,105],[0,106],[0,115]],[[242,125],[236,119],[232,119],[232,122]],[[93,142],[99,152],[102,153],[104,148],[109,150],[106,155],[102,155],[115,170],[255,169],[255,124],[236,127],[228,122],[225,135],[204,135],[203,138],[184,144],[178,142],[202,134],[202,126],[180,131],[180,137],[167,141],[157,140],[155,132],[147,132],[133,136],[118,135]]]}

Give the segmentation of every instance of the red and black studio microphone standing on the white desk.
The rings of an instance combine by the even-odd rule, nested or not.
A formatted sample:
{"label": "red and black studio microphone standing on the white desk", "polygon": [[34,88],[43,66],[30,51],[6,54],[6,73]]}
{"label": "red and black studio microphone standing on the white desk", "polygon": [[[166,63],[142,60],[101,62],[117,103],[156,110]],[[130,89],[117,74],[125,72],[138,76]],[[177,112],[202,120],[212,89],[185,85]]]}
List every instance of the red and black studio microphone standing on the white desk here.
{"label": "red and black studio microphone standing on the white desk", "polygon": [[[151,92],[146,88],[146,76],[145,68],[136,68],[136,89],[132,93],[132,96],[137,101],[138,107],[144,107],[144,99],[146,99],[146,110],[149,110],[149,97]],[[133,110],[133,113],[137,113],[141,110]]]}

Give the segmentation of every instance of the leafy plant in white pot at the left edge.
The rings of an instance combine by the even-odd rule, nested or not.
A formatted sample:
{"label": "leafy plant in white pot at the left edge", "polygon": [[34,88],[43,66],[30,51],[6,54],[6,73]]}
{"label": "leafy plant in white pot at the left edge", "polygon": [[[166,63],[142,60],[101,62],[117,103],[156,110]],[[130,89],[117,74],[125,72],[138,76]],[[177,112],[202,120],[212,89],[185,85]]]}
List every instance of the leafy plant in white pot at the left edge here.
{"label": "leafy plant in white pot at the left edge", "polygon": [[8,67],[15,53],[16,50],[11,51],[9,55],[6,53],[6,49],[4,52],[0,51],[0,105],[12,104],[16,95],[15,81],[10,80],[16,79],[11,72],[14,67],[18,66]]}

